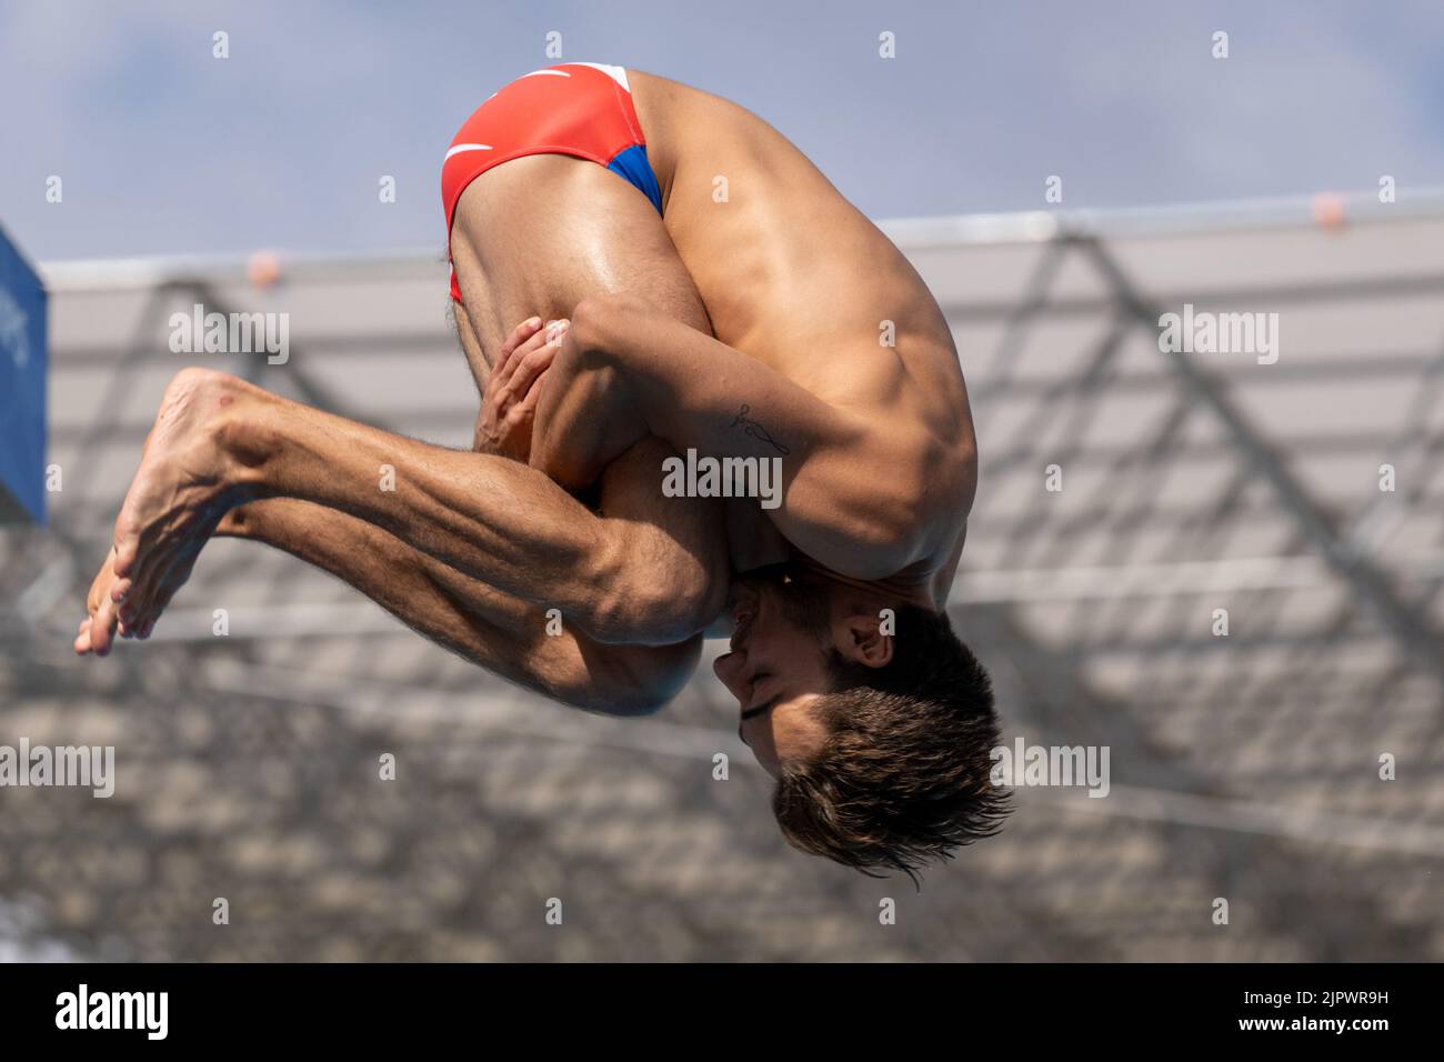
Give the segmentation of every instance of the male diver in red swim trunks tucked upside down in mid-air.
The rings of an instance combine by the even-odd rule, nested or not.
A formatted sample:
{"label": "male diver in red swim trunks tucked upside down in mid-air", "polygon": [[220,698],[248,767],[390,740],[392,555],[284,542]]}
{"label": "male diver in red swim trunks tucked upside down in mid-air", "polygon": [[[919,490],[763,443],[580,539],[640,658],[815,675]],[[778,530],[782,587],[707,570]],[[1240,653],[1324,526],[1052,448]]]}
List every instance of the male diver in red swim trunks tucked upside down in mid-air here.
{"label": "male diver in red swim trunks tucked upside down in mid-air", "polygon": [[[661,708],[721,627],[713,672],[794,847],[914,873],[996,832],[989,681],[944,611],[967,389],[898,249],[755,114],[598,64],[487,100],[442,195],[472,449],[183,370],[77,652],[147,637],[218,535],[593,712]],[[754,487],[679,491],[703,461]]]}

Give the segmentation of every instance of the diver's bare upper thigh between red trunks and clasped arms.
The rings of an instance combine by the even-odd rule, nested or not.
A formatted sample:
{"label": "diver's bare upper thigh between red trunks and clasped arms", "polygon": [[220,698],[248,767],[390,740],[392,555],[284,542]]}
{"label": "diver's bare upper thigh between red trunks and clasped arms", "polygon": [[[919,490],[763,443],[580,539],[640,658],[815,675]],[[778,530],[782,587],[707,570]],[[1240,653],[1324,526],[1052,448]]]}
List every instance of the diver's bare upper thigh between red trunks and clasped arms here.
{"label": "diver's bare upper thigh between red trunks and clasped arms", "polygon": [[585,159],[531,155],[478,176],[456,205],[451,250],[478,386],[514,325],[531,315],[570,316],[592,295],[634,295],[712,332],[647,197]]}

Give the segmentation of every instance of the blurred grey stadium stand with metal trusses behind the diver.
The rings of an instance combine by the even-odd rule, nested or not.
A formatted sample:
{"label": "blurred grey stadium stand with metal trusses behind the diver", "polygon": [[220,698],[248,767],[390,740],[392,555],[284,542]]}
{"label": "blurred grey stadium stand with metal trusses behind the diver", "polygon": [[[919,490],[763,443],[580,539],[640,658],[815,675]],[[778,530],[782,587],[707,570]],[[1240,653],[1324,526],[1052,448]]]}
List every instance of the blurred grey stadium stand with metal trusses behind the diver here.
{"label": "blurred grey stadium stand with metal trusses behind the diver", "polygon": [[[186,364],[172,314],[289,312],[286,364],[228,367],[436,442],[469,441],[475,394],[432,256],[292,260],[260,289],[225,260],[52,266],[62,488],[49,529],[0,532],[0,743],[114,744],[120,779],[110,800],[0,792],[0,945],[1444,957],[1444,210],[1346,218],[1272,204],[888,227],[953,327],[978,420],[954,626],[992,669],[1009,743],[1106,746],[1112,764],[1103,799],[1019,789],[1004,835],[921,893],[783,845],[706,668],[660,717],[588,717],[234,542],[208,546],[150,643],[77,662],[85,587]],[[1276,315],[1276,360],[1162,350],[1161,315],[1184,305]]]}

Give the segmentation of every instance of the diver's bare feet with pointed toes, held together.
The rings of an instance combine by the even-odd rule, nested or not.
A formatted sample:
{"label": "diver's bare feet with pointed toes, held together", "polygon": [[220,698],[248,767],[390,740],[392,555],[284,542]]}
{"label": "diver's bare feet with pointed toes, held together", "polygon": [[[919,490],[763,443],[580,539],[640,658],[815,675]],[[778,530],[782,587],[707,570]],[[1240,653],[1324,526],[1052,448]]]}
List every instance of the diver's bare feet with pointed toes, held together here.
{"label": "diver's bare feet with pointed toes, held together", "polygon": [[[117,630],[147,636],[221,517],[244,500],[221,433],[245,392],[241,380],[208,368],[182,370],[166,387],[116,520],[110,600],[95,603],[77,652],[104,656]],[[97,585],[104,578],[103,566]]]}

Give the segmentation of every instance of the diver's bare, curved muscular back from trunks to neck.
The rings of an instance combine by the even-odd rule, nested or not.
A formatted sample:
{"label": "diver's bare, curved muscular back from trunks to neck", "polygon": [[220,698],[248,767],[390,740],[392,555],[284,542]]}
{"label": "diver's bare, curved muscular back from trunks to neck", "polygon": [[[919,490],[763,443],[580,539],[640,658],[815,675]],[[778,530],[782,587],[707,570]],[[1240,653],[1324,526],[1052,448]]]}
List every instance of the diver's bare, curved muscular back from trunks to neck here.
{"label": "diver's bare, curved muscular back from trunks to neck", "polygon": [[[829,403],[915,433],[917,461],[898,475],[915,477],[918,491],[949,494],[928,506],[944,516],[915,575],[946,594],[976,458],[967,390],[937,302],[901,251],[765,121],[674,81],[628,77],[661,185],[663,225],[713,334]],[[885,321],[891,348],[879,342]]]}

